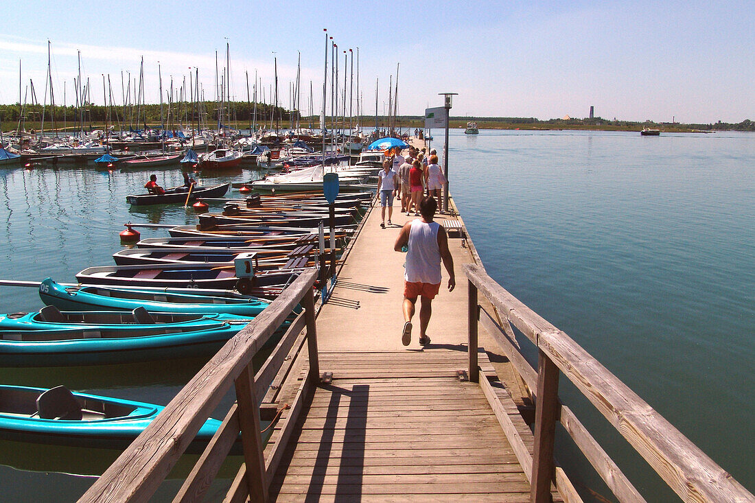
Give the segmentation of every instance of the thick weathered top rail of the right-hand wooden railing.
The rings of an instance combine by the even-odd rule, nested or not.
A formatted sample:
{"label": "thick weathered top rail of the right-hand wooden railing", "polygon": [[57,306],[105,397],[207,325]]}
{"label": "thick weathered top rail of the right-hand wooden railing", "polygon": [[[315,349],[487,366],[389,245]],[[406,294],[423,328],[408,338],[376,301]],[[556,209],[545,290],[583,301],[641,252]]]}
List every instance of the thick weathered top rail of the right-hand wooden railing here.
{"label": "thick weathered top rail of the right-hand wooden railing", "polygon": [[543,351],[684,501],[755,497],[565,332],[507,292],[475,264],[467,279]]}

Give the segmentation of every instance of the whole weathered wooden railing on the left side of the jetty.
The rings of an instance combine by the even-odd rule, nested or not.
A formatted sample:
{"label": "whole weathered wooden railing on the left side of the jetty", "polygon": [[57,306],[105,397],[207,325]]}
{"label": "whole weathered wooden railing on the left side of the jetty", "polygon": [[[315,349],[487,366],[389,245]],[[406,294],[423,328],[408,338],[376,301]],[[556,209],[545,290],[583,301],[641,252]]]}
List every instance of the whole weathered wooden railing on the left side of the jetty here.
{"label": "whole weathered wooden railing on the left side of the jetty", "polygon": [[[302,409],[304,397],[319,379],[313,297],[316,278],[316,270],[301,273],[267,309],[228,341],[79,501],[148,501],[232,385],[236,387],[236,403],[174,501],[202,500],[239,439],[239,432],[245,464],[226,500],[267,501],[268,486],[291,435],[291,427]],[[304,307],[304,312],[291,322],[273,353],[254,375],[252,358],[297,304]],[[282,421],[279,441],[266,459],[260,435],[260,400],[305,327],[309,375],[302,381],[288,417]]]}

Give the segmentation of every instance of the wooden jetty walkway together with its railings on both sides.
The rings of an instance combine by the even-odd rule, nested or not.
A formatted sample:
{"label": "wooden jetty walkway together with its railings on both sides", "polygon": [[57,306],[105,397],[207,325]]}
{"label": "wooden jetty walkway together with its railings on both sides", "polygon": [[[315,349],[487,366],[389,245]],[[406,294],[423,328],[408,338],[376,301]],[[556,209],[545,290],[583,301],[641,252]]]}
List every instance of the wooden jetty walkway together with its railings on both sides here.
{"label": "wooden jetty walkway together with its railings on both sides", "polygon": [[[229,502],[581,501],[554,462],[558,424],[615,498],[645,501],[578,411],[560,402],[562,378],[681,500],[755,501],[568,335],[487,276],[458,216],[437,218],[453,231],[457,289],[442,288],[433,302],[432,343],[420,347],[415,329],[402,346],[404,255],[393,242],[408,218],[395,204],[393,227],[379,227],[379,206],[362,221],[326,304],[313,297],[316,271],[302,273],[80,501],[149,500],[232,389],[236,404],[174,501],[202,501],[239,432],[244,458]],[[298,303],[304,312],[255,372],[252,356]],[[523,344],[536,348],[537,368],[522,356]],[[522,414],[522,393],[535,403],[534,427]],[[270,419],[273,434],[263,443],[260,423]]]}

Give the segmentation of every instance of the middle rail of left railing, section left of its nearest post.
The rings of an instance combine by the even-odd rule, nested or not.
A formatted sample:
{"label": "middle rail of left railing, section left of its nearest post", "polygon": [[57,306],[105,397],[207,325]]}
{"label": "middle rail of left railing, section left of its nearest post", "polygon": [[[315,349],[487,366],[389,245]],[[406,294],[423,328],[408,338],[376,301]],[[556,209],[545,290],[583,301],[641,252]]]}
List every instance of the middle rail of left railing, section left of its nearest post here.
{"label": "middle rail of left railing, section left of its nearest post", "polygon": [[217,429],[212,440],[202,452],[202,456],[194,465],[191,473],[183,482],[183,486],[178,490],[174,503],[186,501],[202,501],[205,492],[209,489],[212,481],[220,471],[220,466],[226,460],[233,444],[239,438],[239,415],[236,403],[231,406],[223,424]]}

